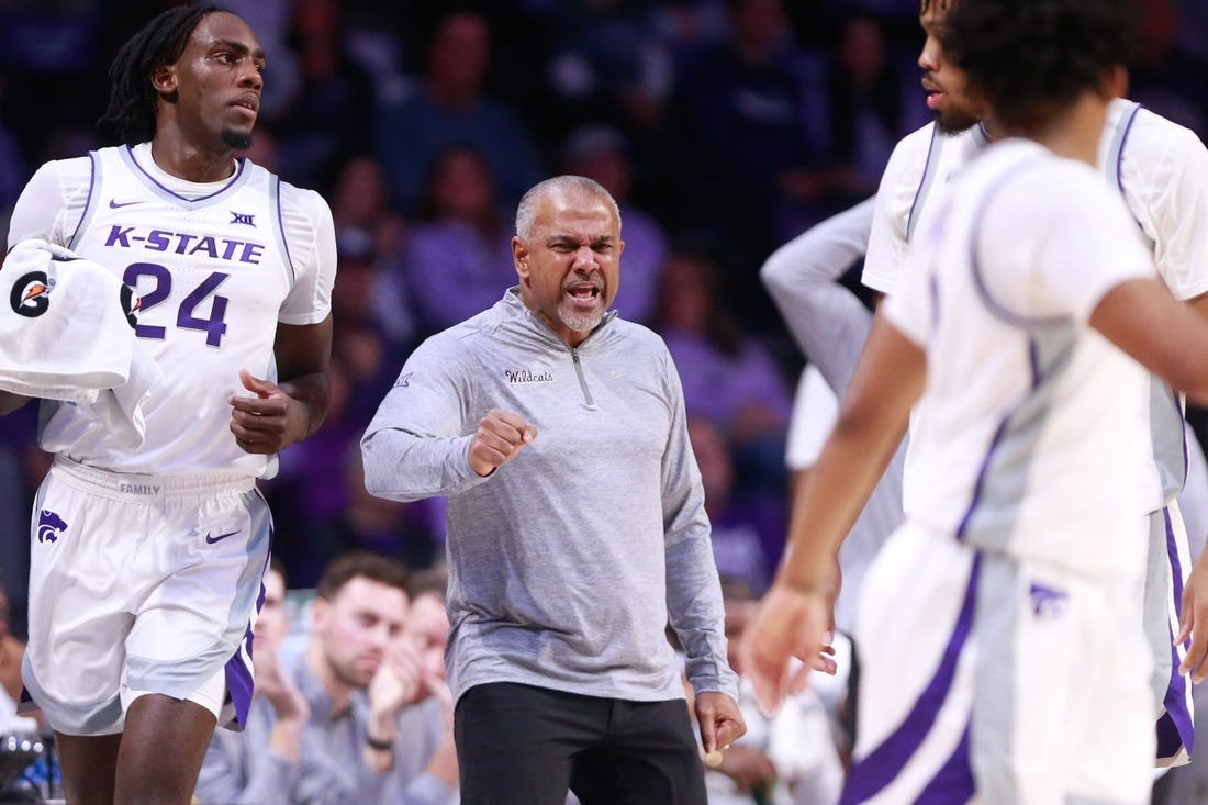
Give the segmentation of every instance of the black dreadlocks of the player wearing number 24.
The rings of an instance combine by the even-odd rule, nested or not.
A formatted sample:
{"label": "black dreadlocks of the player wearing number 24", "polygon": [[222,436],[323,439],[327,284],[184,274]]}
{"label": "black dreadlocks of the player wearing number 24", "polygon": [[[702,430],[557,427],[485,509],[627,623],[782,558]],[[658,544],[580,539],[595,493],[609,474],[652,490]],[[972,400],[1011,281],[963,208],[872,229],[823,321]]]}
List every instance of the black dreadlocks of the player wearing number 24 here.
{"label": "black dreadlocks of the player wearing number 24", "polygon": [[97,128],[108,131],[126,145],[155,137],[156,92],[151,74],[173,64],[185,52],[188,37],[216,6],[175,6],[149,22],[129,39],[109,65],[109,108]]}

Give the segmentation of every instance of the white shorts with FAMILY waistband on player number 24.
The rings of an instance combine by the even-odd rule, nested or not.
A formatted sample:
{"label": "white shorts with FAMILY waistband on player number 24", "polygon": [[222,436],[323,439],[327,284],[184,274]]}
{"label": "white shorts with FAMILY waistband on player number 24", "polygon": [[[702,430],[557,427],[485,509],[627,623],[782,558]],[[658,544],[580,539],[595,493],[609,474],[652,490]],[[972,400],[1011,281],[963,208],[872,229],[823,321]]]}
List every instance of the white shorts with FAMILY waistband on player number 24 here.
{"label": "white shorts with FAMILY waistband on player number 24", "polygon": [[272,539],[252,479],[115,474],[57,457],[30,539],[22,676],[56,731],[120,732],[146,693],[242,723]]}

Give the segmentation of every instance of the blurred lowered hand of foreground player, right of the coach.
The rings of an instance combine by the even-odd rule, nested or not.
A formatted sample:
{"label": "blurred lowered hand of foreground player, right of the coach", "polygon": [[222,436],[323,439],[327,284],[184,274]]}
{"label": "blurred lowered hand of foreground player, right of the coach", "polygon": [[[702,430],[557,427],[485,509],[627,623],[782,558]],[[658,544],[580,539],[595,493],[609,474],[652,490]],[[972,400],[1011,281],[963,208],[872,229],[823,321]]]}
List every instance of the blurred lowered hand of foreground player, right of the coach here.
{"label": "blurred lowered hand of foreground player, right of the coach", "polygon": [[[743,674],[750,679],[755,701],[765,713],[774,713],[790,693],[801,693],[812,668],[835,672],[835,661],[824,644],[830,606],[824,592],[801,592],[773,584],[747,626],[739,647]],[[791,668],[791,658],[805,665]]]}

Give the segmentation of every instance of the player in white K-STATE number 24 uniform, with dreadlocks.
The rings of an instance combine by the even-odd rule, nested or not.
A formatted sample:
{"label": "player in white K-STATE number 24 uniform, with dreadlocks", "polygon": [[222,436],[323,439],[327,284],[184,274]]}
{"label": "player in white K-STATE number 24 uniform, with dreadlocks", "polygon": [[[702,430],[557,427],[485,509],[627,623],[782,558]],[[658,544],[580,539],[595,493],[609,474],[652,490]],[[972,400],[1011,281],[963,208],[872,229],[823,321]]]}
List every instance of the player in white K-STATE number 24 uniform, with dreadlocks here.
{"label": "player in white K-STATE number 24 uniform, with dreadlocks", "polygon": [[272,528],[254,481],[326,412],[331,213],[233,156],[263,68],[239,17],[163,12],[110,68],[101,123],[122,145],[43,164],[12,215],[10,244],[69,247],[135,289],[138,343],[163,373],[138,450],[83,407],[42,404],[56,458],[23,678],[71,803],[190,801],[223,705],[242,718],[251,696]]}

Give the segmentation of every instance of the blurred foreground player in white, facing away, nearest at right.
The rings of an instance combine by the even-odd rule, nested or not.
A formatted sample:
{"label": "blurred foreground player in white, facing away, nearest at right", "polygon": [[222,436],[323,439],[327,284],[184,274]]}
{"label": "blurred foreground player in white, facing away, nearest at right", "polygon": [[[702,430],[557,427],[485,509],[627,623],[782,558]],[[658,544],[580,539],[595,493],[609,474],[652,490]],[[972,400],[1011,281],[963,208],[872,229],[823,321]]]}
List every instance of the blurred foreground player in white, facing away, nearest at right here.
{"label": "blurred foreground player in white, facing away, nearest at right", "polygon": [[1108,342],[1204,399],[1208,325],[1157,280],[1119,195],[1058,158],[1098,157],[1125,6],[962,0],[948,18],[1004,140],[954,181],[882,306],[744,654],[774,705],[788,654],[820,645],[830,557],[920,401],[916,494],[858,616],[844,803],[1148,801],[1131,613],[1149,395]]}

